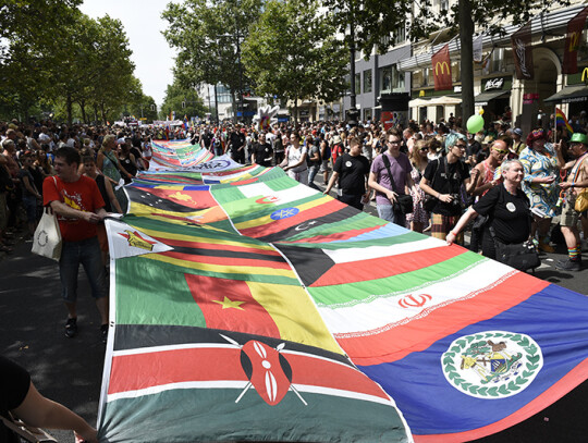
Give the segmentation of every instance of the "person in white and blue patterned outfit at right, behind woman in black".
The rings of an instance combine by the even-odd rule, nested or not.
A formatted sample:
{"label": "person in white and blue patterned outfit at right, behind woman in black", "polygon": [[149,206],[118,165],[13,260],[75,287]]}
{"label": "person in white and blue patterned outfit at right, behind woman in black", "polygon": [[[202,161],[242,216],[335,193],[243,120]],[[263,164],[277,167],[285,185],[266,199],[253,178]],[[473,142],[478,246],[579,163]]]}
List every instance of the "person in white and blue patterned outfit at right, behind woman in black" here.
{"label": "person in white and blue patterned outfit at right, behind woman in black", "polygon": [[527,136],[527,147],[520,151],[519,160],[525,168],[523,190],[534,212],[534,234],[537,231],[539,235],[539,249],[553,253],[548,234],[551,219],[558,214],[560,168],[565,164],[561,144],[547,143],[543,130],[534,130]]}

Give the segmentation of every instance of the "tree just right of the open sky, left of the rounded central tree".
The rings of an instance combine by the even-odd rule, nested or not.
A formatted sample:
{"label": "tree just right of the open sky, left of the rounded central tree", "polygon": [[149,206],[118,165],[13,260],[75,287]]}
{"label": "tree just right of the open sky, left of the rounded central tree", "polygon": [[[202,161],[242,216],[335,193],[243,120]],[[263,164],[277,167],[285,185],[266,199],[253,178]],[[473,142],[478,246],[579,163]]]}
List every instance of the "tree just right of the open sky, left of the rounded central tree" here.
{"label": "tree just right of the open sky, left of the rounded central tree", "polygon": [[170,3],[163,12],[170,26],[163,33],[179,50],[174,77],[184,88],[200,83],[222,84],[233,96],[252,81],[241,62],[241,45],[261,13],[262,0],[185,0]]}

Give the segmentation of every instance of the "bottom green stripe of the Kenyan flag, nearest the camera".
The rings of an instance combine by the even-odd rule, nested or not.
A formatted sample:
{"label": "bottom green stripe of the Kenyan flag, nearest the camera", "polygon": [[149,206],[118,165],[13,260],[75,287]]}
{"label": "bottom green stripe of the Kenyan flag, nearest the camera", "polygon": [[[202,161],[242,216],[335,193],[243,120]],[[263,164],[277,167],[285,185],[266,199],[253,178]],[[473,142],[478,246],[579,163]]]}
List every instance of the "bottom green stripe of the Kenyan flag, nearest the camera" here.
{"label": "bottom green stripe of the Kenyan flag, nearest the camera", "polygon": [[[213,386],[211,386],[213,387]],[[389,405],[294,392],[275,406],[253,389],[179,389],[106,404],[99,440],[125,442],[407,442]],[[106,430],[106,431],[105,431]],[[172,438],[173,436],[173,438]]]}

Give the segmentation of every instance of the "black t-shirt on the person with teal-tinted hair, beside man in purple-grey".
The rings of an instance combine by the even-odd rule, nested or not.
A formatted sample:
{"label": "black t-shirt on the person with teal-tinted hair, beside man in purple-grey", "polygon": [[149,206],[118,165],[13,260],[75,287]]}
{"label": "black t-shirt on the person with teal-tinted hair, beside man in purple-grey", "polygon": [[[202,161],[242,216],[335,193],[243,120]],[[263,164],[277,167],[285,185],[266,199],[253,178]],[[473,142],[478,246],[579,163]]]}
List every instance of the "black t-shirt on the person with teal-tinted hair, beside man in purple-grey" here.
{"label": "black t-shirt on the person with teal-tinted hair, beside man in purple-grey", "polygon": [[[446,173],[445,164],[448,165]],[[424,177],[427,179],[429,186],[438,193],[460,195],[460,187],[469,177],[469,174],[466,164],[462,160],[449,163],[448,159],[442,157],[427,164]],[[431,212],[443,216],[458,216],[462,213],[462,207],[438,200]]]}

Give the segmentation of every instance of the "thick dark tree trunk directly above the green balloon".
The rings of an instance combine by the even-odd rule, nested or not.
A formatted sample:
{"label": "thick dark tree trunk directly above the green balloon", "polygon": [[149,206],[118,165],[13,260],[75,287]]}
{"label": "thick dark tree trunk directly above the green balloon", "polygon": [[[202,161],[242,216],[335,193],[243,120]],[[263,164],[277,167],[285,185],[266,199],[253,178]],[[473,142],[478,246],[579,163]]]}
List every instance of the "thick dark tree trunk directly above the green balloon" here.
{"label": "thick dark tree trunk directly above the green balloon", "polygon": [[460,0],[460,44],[462,71],[462,119],[474,115],[474,21],[471,0]]}

